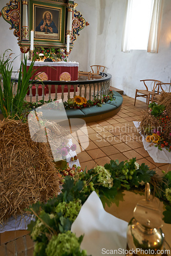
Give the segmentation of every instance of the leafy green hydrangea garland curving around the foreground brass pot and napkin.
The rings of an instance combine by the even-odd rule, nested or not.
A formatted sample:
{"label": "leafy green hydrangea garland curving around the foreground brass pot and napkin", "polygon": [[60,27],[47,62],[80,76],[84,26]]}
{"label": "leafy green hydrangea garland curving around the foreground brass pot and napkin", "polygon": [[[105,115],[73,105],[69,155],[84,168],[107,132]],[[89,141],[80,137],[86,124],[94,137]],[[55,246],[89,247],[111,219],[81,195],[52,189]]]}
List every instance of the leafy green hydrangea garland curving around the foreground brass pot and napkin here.
{"label": "leafy green hydrangea garland curving around the foreground brass pot and napkin", "polygon": [[[171,172],[158,177],[154,170],[149,170],[144,163],[140,166],[133,158],[120,163],[112,160],[110,164],[97,166],[87,172],[75,172],[73,177],[66,176],[57,197],[46,204],[36,202],[29,208],[36,216],[28,227],[35,242],[34,255],[87,255],[85,250],[80,249],[82,236],[77,238],[71,232],[71,225],[92,191],[96,191],[103,205],[107,203],[110,206],[113,199],[118,205],[118,200],[123,201],[124,189],[138,192],[144,189],[146,182],[151,184],[154,195],[164,200],[164,221],[171,223]],[[121,196],[116,199],[119,191]]]}

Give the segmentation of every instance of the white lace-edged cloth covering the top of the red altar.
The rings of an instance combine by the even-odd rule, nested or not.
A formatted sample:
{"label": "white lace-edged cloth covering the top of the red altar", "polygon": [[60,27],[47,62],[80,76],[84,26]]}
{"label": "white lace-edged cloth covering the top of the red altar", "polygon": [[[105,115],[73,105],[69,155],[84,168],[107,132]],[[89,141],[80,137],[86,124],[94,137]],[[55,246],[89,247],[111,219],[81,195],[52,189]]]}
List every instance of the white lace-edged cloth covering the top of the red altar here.
{"label": "white lace-edged cloth covering the top of the red altar", "polygon": [[[27,66],[30,66],[31,61],[27,61]],[[66,61],[58,61],[58,62],[44,62],[44,61],[35,61],[34,67],[78,67],[79,62],[66,62]]]}

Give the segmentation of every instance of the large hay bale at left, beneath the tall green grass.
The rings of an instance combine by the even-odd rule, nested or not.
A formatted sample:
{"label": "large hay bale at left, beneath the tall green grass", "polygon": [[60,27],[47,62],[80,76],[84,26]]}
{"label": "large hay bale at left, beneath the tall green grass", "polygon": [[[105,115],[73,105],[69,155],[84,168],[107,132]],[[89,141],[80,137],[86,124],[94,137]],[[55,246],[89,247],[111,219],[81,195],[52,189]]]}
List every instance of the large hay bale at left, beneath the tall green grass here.
{"label": "large hay bale at left, beneath the tall green grass", "polygon": [[28,123],[0,123],[0,223],[36,201],[57,196],[60,175],[48,143],[34,142]]}

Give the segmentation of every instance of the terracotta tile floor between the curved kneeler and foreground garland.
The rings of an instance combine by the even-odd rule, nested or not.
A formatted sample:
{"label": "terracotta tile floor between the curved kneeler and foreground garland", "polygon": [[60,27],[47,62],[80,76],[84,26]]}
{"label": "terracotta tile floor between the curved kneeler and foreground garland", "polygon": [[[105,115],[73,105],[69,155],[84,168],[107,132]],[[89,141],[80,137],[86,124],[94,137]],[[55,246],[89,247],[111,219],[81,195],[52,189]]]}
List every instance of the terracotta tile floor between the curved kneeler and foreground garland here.
{"label": "terracotta tile floor between the curved kneeler and foreground garland", "polygon": [[[155,163],[144,150],[141,136],[137,135],[133,121],[138,121],[141,111],[146,109],[145,102],[136,101],[126,95],[117,115],[102,121],[88,123],[89,146],[85,151],[77,151],[82,169],[104,165],[110,160],[125,161],[136,157],[139,164],[145,163],[150,169],[155,169],[160,174],[161,170],[171,170],[171,164]],[[82,137],[84,137],[82,135]],[[88,141],[88,138],[84,138]],[[78,142],[77,142],[78,143]],[[86,147],[86,142],[82,143]],[[171,157],[171,154],[170,154]]]}

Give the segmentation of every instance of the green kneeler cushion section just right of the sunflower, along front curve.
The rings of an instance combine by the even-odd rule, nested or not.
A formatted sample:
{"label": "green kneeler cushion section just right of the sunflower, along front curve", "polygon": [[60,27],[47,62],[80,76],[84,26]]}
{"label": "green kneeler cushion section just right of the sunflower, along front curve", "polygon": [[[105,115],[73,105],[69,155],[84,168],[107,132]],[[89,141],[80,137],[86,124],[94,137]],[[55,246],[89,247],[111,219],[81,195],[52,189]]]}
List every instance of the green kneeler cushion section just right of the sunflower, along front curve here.
{"label": "green kneeler cushion section just right of the sunflower, along front curve", "polygon": [[105,114],[115,109],[117,109],[116,106],[105,103],[102,106],[90,106],[89,108],[81,109],[81,111],[84,113],[86,117],[88,117]]}

